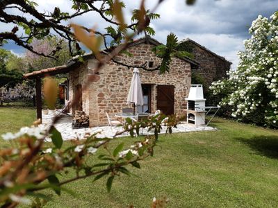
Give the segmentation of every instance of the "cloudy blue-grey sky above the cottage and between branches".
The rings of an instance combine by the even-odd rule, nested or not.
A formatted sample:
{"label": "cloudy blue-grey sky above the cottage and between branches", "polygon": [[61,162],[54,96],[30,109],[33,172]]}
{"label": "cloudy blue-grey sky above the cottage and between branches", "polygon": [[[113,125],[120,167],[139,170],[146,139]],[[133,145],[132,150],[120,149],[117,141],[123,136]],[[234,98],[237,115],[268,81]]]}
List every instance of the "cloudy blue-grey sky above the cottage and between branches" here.
{"label": "cloudy blue-grey sky above the cottage and between branches", "polygon": [[[60,10],[70,12],[69,0],[36,0],[40,11],[53,11],[55,6]],[[126,0],[126,19],[131,16],[131,10],[138,8],[139,0]],[[153,8],[157,1],[146,0],[147,8]],[[243,40],[250,37],[248,28],[258,15],[270,17],[278,10],[277,0],[197,0],[194,6],[186,6],[184,0],[165,0],[156,10],[161,19],[152,21],[158,41],[165,43],[166,36],[174,32],[179,40],[189,37],[211,51],[224,56],[233,62],[233,68],[238,64],[236,52],[243,50]],[[83,15],[73,20],[77,24],[104,28],[106,22],[101,21],[97,14]],[[13,26],[0,24],[0,31],[7,31]],[[4,48],[13,53],[22,54],[24,49],[13,43]]]}

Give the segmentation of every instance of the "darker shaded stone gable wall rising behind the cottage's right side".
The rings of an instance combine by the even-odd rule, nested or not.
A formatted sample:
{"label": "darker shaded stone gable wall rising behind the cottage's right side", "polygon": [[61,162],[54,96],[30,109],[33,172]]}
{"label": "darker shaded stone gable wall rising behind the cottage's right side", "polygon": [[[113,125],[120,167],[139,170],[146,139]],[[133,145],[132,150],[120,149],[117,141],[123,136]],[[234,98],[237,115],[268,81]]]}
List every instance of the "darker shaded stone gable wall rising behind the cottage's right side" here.
{"label": "darker shaded stone gable wall rising behind the cottage's right side", "polygon": [[190,42],[194,60],[199,62],[199,68],[193,69],[197,73],[201,74],[208,85],[215,80],[220,80],[223,77],[227,77],[226,71],[229,71],[231,63],[221,58],[220,56],[214,55],[209,51],[206,51],[196,44]]}

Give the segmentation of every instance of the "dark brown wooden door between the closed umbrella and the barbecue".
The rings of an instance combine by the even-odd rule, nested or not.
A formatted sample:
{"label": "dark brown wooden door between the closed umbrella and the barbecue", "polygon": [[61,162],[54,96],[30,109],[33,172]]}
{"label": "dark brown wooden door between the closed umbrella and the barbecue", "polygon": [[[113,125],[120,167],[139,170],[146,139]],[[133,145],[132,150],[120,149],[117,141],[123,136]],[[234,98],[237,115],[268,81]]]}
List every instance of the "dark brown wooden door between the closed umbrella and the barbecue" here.
{"label": "dark brown wooden door between the closed umbrella and the barbecue", "polygon": [[157,86],[157,109],[163,114],[174,114],[174,86]]}

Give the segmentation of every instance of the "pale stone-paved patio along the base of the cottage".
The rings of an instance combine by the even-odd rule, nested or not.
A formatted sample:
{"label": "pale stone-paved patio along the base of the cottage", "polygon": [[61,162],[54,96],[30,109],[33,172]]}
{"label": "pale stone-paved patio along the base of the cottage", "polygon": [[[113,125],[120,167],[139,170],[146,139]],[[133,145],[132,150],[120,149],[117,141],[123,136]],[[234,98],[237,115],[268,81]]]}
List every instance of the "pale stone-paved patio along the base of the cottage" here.
{"label": "pale stone-paved patio along the base of the cottage", "polygon": [[[58,112],[55,112],[57,114]],[[42,112],[42,123],[45,125],[49,125],[54,118],[54,114],[44,114]],[[56,123],[55,127],[58,131],[61,132],[62,137],[64,140],[69,139],[82,139],[84,138],[85,134],[92,134],[94,132],[99,132],[97,137],[113,137],[117,131],[122,130],[121,127],[109,127],[109,126],[99,126],[94,128],[79,128],[79,129],[72,129],[72,116],[63,114],[61,119]],[[165,134],[166,128],[161,130],[161,134]],[[206,125],[193,125],[188,124],[186,122],[181,122],[177,125],[177,128],[172,128],[172,133],[180,133],[180,132],[196,132],[196,131],[207,131],[207,130],[217,130],[211,126]],[[140,130],[140,134],[142,135],[152,135],[153,132],[147,132],[147,129]],[[126,132],[120,137],[129,136],[129,133]]]}

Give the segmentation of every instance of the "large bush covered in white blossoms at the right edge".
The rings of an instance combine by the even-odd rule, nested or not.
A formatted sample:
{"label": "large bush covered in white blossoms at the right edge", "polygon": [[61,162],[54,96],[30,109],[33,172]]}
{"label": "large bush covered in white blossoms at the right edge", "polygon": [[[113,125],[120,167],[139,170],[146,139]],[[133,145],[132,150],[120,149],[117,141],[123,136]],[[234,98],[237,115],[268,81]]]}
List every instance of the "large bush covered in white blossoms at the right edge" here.
{"label": "large bush covered in white blossoms at the right edge", "polygon": [[[236,71],[212,83],[214,95],[224,94],[221,106],[232,106],[231,116],[244,119],[256,114],[265,125],[278,128],[278,11],[270,19],[259,17],[249,29],[245,51],[239,51]],[[260,114],[258,114],[260,112]]]}

